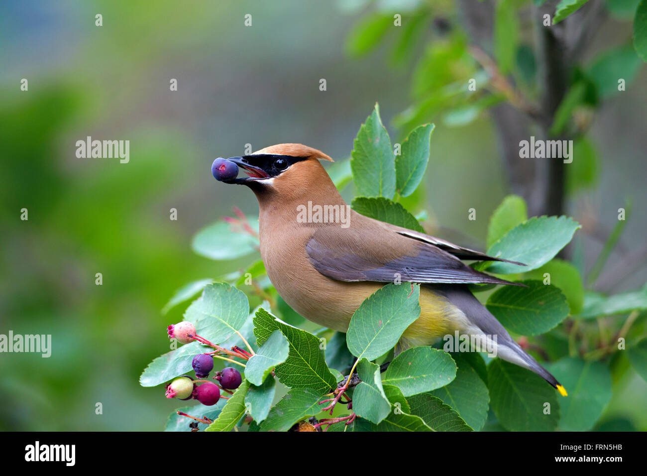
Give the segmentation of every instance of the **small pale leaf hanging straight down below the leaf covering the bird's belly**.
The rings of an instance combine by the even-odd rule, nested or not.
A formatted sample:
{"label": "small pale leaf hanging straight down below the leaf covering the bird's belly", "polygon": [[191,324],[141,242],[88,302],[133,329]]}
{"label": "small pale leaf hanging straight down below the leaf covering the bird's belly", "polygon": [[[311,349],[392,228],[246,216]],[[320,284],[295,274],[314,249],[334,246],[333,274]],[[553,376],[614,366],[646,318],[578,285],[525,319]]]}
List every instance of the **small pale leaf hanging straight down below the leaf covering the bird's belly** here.
{"label": "small pale leaf hanging straight down below the leaf covering the bird's belly", "polygon": [[391,413],[391,403],[382,388],[380,366],[362,359],[357,365],[357,374],[362,382],[353,390],[353,411],[378,424]]}

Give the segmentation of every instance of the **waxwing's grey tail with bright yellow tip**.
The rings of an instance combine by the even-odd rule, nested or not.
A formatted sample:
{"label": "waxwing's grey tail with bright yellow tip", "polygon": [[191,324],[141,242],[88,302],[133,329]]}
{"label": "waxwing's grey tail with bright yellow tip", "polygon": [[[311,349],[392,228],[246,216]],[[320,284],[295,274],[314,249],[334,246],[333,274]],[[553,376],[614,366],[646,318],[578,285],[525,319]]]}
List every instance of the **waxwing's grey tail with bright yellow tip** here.
{"label": "waxwing's grey tail with bright yellow tip", "polygon": [[466,334],[479,334],[485,339],[496,336],[490,343],[496,346],[496,354],[505,361],[509,361],[520,367],[525,367],[538,374],[545,381],[553,385],[562,396],[567,396],[566,389],[556,378],[510,337],[507,330],[496,320],[487,308],[481,304],[466,286],[443,286],[436,288],[446,299],[454,304],[465,317],[470,321],[468,329],[463,330]]}

